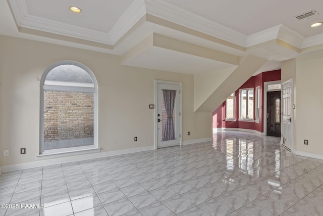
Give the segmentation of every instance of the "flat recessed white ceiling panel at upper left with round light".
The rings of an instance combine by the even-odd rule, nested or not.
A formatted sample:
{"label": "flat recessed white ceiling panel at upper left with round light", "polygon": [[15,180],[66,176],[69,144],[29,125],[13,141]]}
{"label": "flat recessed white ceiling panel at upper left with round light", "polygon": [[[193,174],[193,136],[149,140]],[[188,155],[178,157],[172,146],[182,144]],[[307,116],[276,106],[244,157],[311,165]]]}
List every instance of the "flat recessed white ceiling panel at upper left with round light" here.
{"label": "flat recessed white ceiling panel at upper left with round light", "polygon": [[[132,2],[133,0],[25,1],[28,14],[31,16],[104,33],[109,33],[111,31],[115,23],[125,13]],[[74,5],[80,7],[82,13],[71,13],[69,7]]]}

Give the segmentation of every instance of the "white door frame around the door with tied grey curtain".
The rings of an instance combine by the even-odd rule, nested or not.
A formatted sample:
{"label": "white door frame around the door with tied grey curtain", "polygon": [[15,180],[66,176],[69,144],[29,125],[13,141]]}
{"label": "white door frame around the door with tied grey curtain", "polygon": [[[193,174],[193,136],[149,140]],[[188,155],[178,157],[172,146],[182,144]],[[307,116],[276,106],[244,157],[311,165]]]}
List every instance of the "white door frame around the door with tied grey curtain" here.
{"label": "white door frame around the door with tied grey curtain", "polygon": [[179,85],[180,88],[180,146],[183,144],[183,136],[182,136],[182,116],[183,116],[183,112],[182,112],[182,95],[183,95],[183,83],[182,82],[174,82],[174,81],[165,81],[165,80],[158,80],[155,79],[154,80],[154,147],[155,149],[158,148],[158,141],[157,141],[157,137],[158,137],[158,125],[157,125],[157,84],[171,84],[171,85]]}

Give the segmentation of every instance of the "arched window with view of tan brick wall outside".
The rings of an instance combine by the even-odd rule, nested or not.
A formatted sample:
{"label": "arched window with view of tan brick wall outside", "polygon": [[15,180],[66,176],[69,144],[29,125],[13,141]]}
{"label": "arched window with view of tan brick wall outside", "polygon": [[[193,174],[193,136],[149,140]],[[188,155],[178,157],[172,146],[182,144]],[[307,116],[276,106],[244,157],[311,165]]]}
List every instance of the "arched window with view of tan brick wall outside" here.
{"label": "arched window with view of tan brick wall outside", "polygon": [[40,154],[97,148],[97,82],[85,65],[57,62],[40,83]]}

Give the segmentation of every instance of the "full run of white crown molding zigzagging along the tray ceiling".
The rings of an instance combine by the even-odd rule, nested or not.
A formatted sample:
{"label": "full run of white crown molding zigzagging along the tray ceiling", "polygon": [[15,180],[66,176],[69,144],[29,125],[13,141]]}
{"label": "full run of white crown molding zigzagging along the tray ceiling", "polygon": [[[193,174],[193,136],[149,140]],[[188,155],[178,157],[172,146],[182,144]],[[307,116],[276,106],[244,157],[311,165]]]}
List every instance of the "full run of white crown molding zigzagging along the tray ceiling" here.
{"label": "full run of white crown molding zigzagging along the tray ceiling", "polygon": [[299,49],[323,44],[323,33],[305,38],[283,24],[247,36],[163,0],[134,0],[108,33],[30,15],[26,1],[8,1],[20,32],[23,32],[23,29],[31,29],[85,39],[103,45],[116,44],[146,14],[228,41],[242,48],[273,39],[280,39]]}

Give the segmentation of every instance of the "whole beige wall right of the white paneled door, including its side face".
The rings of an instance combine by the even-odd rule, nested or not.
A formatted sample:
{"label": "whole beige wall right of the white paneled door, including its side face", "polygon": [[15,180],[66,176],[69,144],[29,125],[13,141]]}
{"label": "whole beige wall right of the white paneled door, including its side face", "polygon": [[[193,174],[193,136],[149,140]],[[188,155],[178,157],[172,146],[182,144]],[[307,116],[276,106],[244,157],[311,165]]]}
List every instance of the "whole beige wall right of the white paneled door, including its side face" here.
{"label": "whole beige wall right of the white paneled door, including its side face", "polygon": [[[323,155],[322,68],[323,52],[282,62],[282,82],[293,78],[294,85],[294,150],[296,154],[317,158]],[[304,145],[304,140],[308,140],[308,145]]]}

